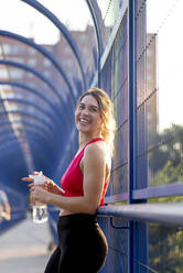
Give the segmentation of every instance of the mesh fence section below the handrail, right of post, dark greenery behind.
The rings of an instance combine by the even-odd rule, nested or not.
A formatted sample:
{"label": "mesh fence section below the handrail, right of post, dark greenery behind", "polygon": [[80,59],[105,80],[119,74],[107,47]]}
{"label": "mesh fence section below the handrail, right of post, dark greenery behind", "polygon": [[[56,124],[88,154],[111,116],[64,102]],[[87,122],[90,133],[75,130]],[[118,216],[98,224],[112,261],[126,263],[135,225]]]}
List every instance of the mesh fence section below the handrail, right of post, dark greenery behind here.
{"label": "mesh fence section below the handrail, right of post, dark greenery behind", "polygon": [[182,228],[149,225],[149,266],[152,272],[181,273],[183,271]]}

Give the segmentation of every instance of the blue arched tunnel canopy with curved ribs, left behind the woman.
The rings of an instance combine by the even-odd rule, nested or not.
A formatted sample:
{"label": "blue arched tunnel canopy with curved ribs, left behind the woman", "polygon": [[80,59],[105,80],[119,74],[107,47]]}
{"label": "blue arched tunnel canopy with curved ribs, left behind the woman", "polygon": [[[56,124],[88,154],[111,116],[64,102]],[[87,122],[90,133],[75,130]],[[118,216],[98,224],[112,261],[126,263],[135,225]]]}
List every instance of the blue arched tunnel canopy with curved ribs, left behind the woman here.
{"label": "blue arched tunnel canopy with curved ribs, left behind the woman", "polygon": [[[23,43],[34,48],[39,53],[36,56],[40,57],[40,54],[42,54],[42,59],[49,61],[52,67],[55,68],[55,78],[57,79],[58,73],[58,76],[64,80],[63,87],[60,87],[56,80],[49,78],[49,74],[40,72],[39,66],[30,66],[26,62],[19,62],[11,55],[3,56],[2,54],[2,59],[0,59],[0,65],[3,65],[4,69],[10,70],[10,66],[17,68],[13,69],[14,72],[23,69],[29,73],[25,80],[29,78],[35,79],[35,85],[32,87],[29,80],[13,78],[13,73],[12,75],[10,73],[10,77],[7,79],[0,78],[0,95],[3,94],[0,97],[0,167],[2,170],[0,172],[0,181],[6,181],[7,186],[11,186],[13,190],[19,190],[22,199],[24,198],[25,201],[29,190],[25,185],[20,184],[20,178],[26,176],[30,171],[37,170],[43,171],[46,176],[51,178],[56,177],[57,179],[62,175],[68,157],[72,159],[77,149],[74,110],[77,96],[82,90],[86,90],[85,72],[87,72],[87,67],[84,67],[75,40],[60,19],[39,1],[21,1],[36,9],[40,14],[46,17],[60,30],[72,48],[82,75],[82,77],[80,75],[78,77],[77,75],[72,75],[66,68],[63,69],[62,59],[58,61],[54,53],[46,50],[43,45],[39,45],[32,40],[17,34],[17,31],[13,33],[0,30],[0,36],[8,37],[8,41],[11,41],[12,44],[15,44],[18,41],[20,42],[19,44]],[[95,13],[94,9],[92,10]],[[93,19],[95,19],[95,15]],[[95,26],[97,28],[97,25]],[[4,41],[7,40],[4,39]],[[100,59],[100,47],[98,42],[98,62]],[[93,52],[89,54],[93,56]],[[95,74],[92,70],[89,73],[88,75]],[[44,83],[44,87],[46,85],[49,89],[40,90],[39,85],[36,86],[37,79],[39,84],[42,80],[41,83]],[[76,84],[79,85],[79,88]],[[54,95],[53,100],[52,94]],[[33,95],[32,100],[30,95]],[[28,164],[29,161],[31,161],[32,168]],[[9,171],[10,166],[11,172]]]}

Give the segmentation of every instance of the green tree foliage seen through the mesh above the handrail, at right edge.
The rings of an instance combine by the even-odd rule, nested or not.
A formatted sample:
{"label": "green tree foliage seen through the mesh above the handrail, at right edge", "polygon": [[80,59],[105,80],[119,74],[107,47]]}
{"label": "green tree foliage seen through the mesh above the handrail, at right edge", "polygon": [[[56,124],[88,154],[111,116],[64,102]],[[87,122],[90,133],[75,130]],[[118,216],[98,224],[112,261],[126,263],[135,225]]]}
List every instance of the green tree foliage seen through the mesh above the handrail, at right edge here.
{"label": "green tree foliage seen through the mesh above the handrail, at right edge", "polygon": [[183,181],[183,127],[172,124],[161,134],[151,134],[150,145],[152,148],[149,153],[151,173],[149,185]]}

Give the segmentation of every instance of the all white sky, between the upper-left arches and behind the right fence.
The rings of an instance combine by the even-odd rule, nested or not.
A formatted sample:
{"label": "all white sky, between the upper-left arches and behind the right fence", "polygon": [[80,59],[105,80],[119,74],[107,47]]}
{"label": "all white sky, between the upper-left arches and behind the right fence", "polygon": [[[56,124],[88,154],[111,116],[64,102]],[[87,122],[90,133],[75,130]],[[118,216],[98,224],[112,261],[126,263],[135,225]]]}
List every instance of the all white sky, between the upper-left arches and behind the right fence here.
{"label": "all white sky, between the upper-left arches and behind the right fence", "polygon": [[[57,29],[20,0],[0,0],[0,29],[31,36],[37,43],[56,43]],[[84,30],[92,22],[85,0],[40,0],[67,28]],[[98,1],[100,4],[107,1]],[[183,123],[183,0],[148,0],[147,31],[158,33],[158,86],[160,130]]]}

